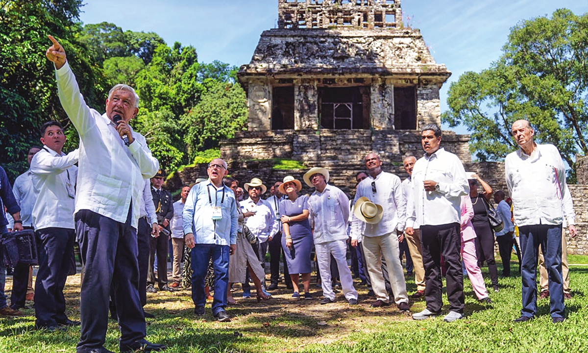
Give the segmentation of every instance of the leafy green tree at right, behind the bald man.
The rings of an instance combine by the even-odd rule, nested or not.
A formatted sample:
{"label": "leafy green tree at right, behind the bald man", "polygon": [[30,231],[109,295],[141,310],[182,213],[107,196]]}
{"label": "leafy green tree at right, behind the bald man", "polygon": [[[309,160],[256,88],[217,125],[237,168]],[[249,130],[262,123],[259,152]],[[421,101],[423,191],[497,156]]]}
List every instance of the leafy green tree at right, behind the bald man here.
{"label": "leafy green tree at right, behind the bald man", "polygon": [[558,9],[551,18],[522,21],[490,68],[450,86],[442,121],[467,126],[470,151],[486,161],[516,149],[510,126],[527,119],[538,142],[559,148],[573,178],[575,155],[588,152],[587,61],[588,14]]}

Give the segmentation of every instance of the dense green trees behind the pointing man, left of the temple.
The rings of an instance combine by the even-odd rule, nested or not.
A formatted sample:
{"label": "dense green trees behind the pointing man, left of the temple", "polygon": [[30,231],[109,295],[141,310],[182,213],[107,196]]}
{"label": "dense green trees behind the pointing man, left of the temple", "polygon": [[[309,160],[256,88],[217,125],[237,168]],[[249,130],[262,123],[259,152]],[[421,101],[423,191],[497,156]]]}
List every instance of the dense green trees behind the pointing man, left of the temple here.
{"label": "dense green trees behind the pointing man, left of the temple", "polygon": [[218,148],[246,122],[246,99],[236,68],[198,62],[193,46],[171,47],[153,32],[123,31],[108,22],[79,22],[81,0],[0,0],[0,165],[11,180],[26,171],[26,153],[50,119],[66,126],[66,150],[78,135],[61,108],[54,68],[45,58],[54,35],[64,45],[86,102],[104,111],[108,90],[136,89],[131,121],[148,139],[163,169],[190,164],[198,151]]}

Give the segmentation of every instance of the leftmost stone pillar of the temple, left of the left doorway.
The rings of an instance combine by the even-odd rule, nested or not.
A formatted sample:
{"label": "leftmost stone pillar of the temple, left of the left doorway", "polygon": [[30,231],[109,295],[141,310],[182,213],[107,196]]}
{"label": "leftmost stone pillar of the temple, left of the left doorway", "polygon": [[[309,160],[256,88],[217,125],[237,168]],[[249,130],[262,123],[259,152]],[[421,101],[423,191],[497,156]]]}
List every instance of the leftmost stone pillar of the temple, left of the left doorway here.
{"label": "leftmost stone pillar of the temple, left of the left doorway", "polygon": [[272,89],[266,79],[249,82],[247,99],[249,131],[268,131],[272,129]]}

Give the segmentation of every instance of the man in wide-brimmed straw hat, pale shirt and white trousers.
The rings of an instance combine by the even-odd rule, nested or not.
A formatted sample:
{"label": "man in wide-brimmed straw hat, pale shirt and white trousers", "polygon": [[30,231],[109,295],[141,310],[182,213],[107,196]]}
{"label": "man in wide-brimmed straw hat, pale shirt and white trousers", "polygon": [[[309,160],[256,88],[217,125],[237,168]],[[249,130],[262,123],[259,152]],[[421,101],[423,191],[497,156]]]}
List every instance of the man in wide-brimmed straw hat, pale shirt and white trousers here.
{"label": "man in wide-brimmed straw hat, pale shirt and white trousers", "polygon": [[315,188],[308,199],[308,205],[320,283],[325,297],[320,304],[335,301],[330,275],[330,255],[337,262],[345,299],[351,305],[358,304],[358,292],[353,288],[353,278],[346,259],[349,199],[339,188],[328,184],[329,171],[325,168],[312,168],[303,178],[306,185]]}

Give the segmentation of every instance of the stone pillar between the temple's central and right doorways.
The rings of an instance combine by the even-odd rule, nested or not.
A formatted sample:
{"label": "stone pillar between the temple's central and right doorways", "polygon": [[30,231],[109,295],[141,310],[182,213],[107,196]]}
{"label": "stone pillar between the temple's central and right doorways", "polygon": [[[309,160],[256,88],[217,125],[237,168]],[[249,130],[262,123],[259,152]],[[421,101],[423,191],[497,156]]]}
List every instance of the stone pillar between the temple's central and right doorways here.
{"label": "stone pillar between the temple's central and right doorways", "polygon": [[392,79],[374,78],[371,94],[372,128],[376,130],[394,129],[394,85]]}

